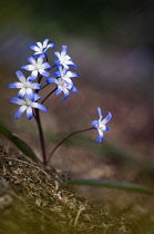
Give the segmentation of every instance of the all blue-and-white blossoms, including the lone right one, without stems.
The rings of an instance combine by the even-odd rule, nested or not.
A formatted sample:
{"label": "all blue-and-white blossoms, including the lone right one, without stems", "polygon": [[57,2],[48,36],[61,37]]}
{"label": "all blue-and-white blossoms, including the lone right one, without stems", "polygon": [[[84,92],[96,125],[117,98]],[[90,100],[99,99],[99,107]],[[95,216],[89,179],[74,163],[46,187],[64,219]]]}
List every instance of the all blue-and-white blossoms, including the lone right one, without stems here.
{"label": "all blue-and-white blossoms, including the lone right one, without stems", "polygon": [[[37,42],[35,46],[30,46],[30,49],[34,51],[33,57],[28,58],[30,65],[24,65],[21,67],[21,69],[31,71],[31,75],[25,78],[24,75],[18,70],[16,74],[19,81],[9,85],[9,88],[20,89],[18,96],[10,99],[10,103],[20,105],[16,113],[16,119],[19,119],[24,111],[27,111],[27,118],[32,119],[34,116],[33,108],[47,111],[47,108],[42,104],[38,103],[38,100],[41,99],[38,92],[39,89],[44,88],[48,84],[57,85],[55,95],[61,92],[64,94],[62,100],[65,100],[69,97],[70,90],[78,94],[78,89],[74,87],[71,79],[78,77],[78,75],[69,70],[71,66],[73,66],[74,69],[76,69],[78,66],[72,61],[71,57],[66,55],[66,46],[62,46],[61,52],[53,52],[53,55],[58,57],[54,59],[53,66],[57,68],[57,71],[53,72],[54,77],[51,77],[49,70],[51,70],[53,67],[51,67],[51,65],[48,62],[47,50],[49,48],[54,48],[54,43],[49,43],[49,39],[45,39],[43,43]],[[45,79],[47,85],[43,87],[41,85],[42,77],[48,77]],[[38,82],[33,82],[37,78]],[[94,120],[91,124],[94,125],[92,128],[95,128],[99,131],[96,143],[101,143],[104,139],[103,131],[109,131],[106,123],[112,118],[112,114],[109,113],[109,115],[102,119],[103,116],[100,107],[97,107],[97,113],[99,120]]]}

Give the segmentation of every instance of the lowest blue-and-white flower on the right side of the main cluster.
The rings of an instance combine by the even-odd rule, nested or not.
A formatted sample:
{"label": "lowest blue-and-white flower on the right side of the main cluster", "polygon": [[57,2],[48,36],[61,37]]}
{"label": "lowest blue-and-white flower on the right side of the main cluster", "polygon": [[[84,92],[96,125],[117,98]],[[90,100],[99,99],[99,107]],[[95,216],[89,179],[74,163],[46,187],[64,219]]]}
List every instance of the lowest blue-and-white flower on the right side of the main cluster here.
{"label": "lowest blue-and-white flower on the right side of the main cluster", "polygon": [[59,95],[59,94],[61,94],[63,91],[64,98],[62,100],[65,100],[69,97],[69,95],[70,95],[69,90],[74,91],[75,94],[78,94],[78,89],[74,86],[72,86],[72,84],[71,85],[68,84],[62,78],[55,79],[55,78],[50,77],[50,78],[47,79],[47,82],[48,84],[50,84],[50,82],[57,84],[58,89],[55,91],[55,95]]}

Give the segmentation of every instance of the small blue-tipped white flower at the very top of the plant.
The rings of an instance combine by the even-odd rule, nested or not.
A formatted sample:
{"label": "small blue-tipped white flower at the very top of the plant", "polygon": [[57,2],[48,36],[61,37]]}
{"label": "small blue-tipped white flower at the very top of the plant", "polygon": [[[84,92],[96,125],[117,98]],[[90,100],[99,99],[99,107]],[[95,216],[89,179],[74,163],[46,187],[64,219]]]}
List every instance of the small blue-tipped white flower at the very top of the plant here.
{"label": "small blue-tipped white flower at the very top of the plant", "polygon": [[35,56],[35,55],[40,55],[40,53],[45,53],[45,51],[47,51],[49,48],[53,48],[53,47],[54,47],[54,43],[49,43],[49,45],[48,45],[49,41],[51,41],[51,40],[45,39],[45,40],[43,41],[43,43],[37,42],[35,46],[30,46],[30,49],[32,49],[32,50],[35,51],[33,55]]}

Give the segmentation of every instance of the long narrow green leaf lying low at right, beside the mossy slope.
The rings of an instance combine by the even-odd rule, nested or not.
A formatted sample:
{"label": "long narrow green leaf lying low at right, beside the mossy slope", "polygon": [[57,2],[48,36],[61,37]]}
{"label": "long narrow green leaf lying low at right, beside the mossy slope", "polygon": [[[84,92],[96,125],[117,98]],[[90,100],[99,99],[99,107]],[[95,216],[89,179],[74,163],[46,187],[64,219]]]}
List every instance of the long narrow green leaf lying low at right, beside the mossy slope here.
{"label": "long narrow green leaf lying low at right, beside the mossy slope", "polygon": [[73,185],[86,185],[86,186],[117,188],[123,191],[134,191],[134,192],[154,195],[154,189],[131,183],[119,183],[111,181],[86,179],[86,178],[71,179],[68,181],[68,183]]}

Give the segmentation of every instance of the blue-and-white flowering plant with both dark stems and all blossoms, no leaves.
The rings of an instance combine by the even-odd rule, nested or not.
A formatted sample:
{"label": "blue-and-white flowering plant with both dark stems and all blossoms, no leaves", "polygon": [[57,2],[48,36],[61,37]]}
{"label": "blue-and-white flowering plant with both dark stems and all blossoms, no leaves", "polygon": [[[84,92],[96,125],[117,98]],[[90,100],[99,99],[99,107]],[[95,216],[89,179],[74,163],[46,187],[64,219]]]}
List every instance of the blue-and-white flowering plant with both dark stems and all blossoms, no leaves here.
{"label": "blue-and-white flowering plant with both dark stems and all blossoms, no leaves", "polygon": [[[39,130],[40,146],[42,150],[42,164],[44,166],[49,165],[54,152],[66,139],[69,139],[75,134],[96,129],[99,131],[99,138],[96,143],[101,143],[104,139],[103,131],[109,131],[106,123],[110,121],[110,119],[112,118],[112,114],[109,113],[109,115],[104,119],[102,119],[103,116],[101,108],[97,107],[99,120],[93,120],[91,123],[92,125],[94,125],[93,127],[69,134],[51,150],[49,156],[47,156],[45,139],[39,110],[47,113],[47,108],[43,106],[43,104],[53,92],[55,92],[55,95],[60,95],[63,92],[64,96],[62,98],[62,101],[66,100],[72,91],[78,94],[78,89],[74,87],[74,84],[72,81],[72,79],[76,78],[78,75],[76,72],[70,70],[70,68],[72,67],[76,69],[78,66],[68,55],[68,47],[62,46],[61,52],[53,52],[57,59],[54,59],[54,65],[51,66],[49,64],[47,50],[49,48],[53,48],[54,43],[49,42],[50,40],[45,39],[42,43],[39,41],[34,46],[30,46],[30,49],[32,49],[34,53],[32,57],[28,58],[29,65],[23,65],[21,69],[30,71],[31,75],[28,78],[25,78],[25,76],[20,70],[18,70],[16,72],[18,81],[12,82],[8,86],[9,88],[19,89],[17,97],[12,97],[10,99],[10,103],[20,106],[16,113],[16,119],[19,119],[24,111],[27,113],[27,119],[30,120],[33,117],[35,119]],[[52,77],[49,71],[53,68],[55,68],[55,71],[52,74]],[[33,82],[37,78],[38,82]],[[41,82],[43,82],[43,79],[47,84],[42,86]],[[40,90],[44,89],[47,86],[52,86],[52,84],[54,84],[54,86],[57,87],[54,89],[51,89],[51,91],[49,91],[49,94],[45,97],[43,97],[43,99],[40,101]]]}

